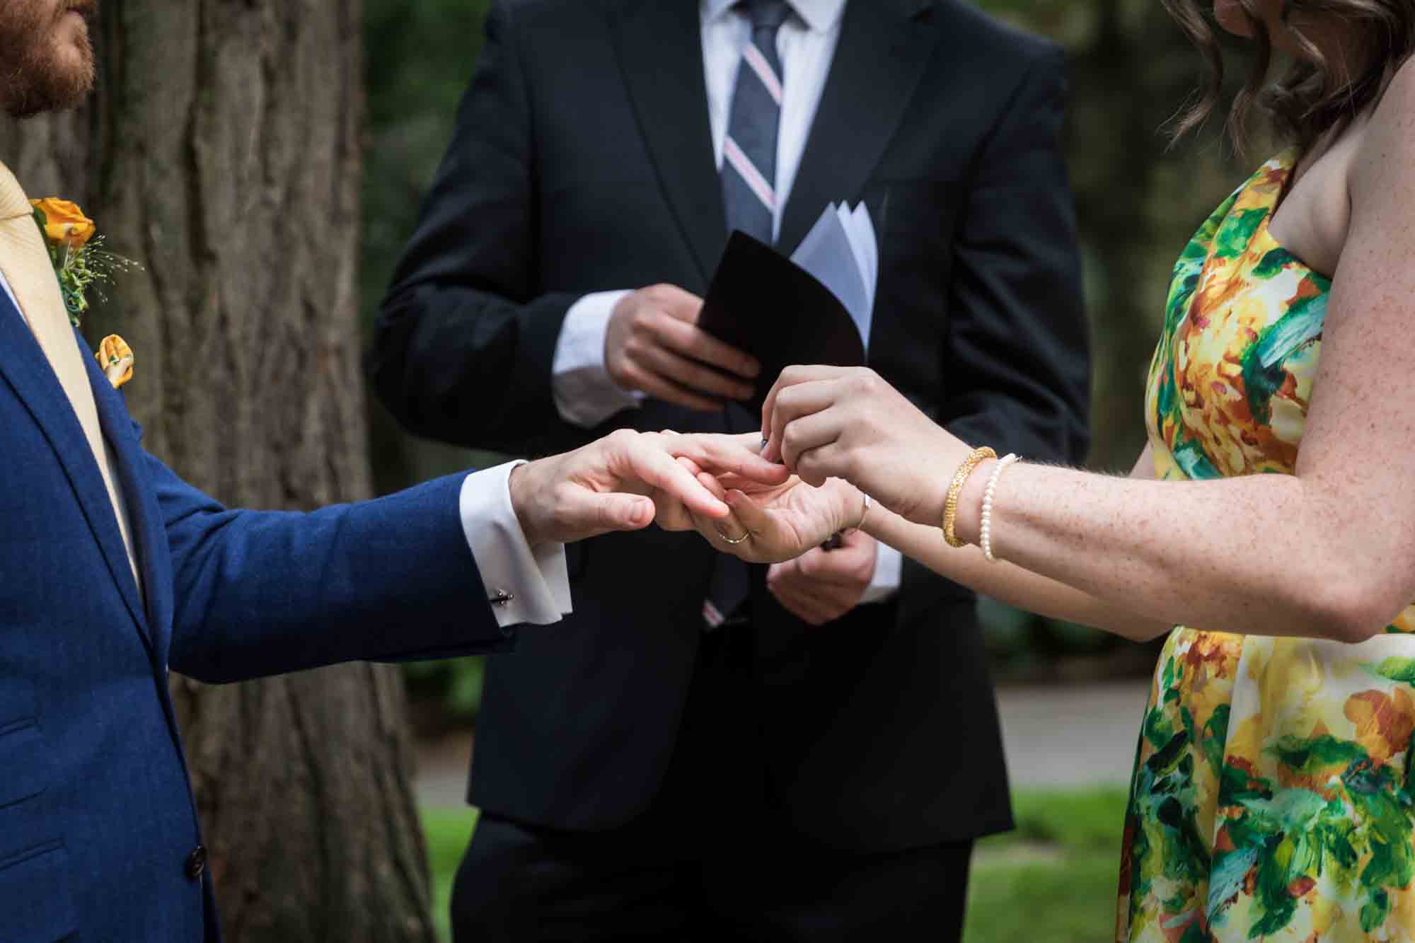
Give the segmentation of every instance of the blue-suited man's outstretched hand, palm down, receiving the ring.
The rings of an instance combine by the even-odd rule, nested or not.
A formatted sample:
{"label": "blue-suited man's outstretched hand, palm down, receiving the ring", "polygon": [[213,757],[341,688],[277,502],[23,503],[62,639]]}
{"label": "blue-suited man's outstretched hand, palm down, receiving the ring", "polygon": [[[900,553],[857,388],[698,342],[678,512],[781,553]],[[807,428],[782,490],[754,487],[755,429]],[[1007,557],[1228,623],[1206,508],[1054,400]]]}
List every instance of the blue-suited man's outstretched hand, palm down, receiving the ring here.
{"label": "blue-suited man's outstretched hand, palm down, receiving the ring", "polygon": [[743,479],[788,477],[784,467],[729,436],[621,429],[583,449],[518,466],[511,473],[511,505],[532,547],[642,530],[654,521],[655,505],[688,508],[705,521],[729,517],[727,504],[695,477],[699,469]]}

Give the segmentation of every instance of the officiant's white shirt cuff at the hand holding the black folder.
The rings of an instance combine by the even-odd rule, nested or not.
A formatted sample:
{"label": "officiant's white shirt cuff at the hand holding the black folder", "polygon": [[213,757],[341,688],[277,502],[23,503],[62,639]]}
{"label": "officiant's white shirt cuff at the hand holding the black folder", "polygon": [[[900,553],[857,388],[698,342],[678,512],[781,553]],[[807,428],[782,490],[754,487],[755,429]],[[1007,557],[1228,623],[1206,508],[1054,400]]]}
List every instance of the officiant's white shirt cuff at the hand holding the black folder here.
{"label": "officiant's white shirt cuff at the hand holding the black folder", "polygon": [[621,389],[604,368],[604,334],[616,306],[633,292],[597,292],[570,306],[555,343],[550,392],[560,418],[591,429],[616,412],[644,401],[637,389]]}

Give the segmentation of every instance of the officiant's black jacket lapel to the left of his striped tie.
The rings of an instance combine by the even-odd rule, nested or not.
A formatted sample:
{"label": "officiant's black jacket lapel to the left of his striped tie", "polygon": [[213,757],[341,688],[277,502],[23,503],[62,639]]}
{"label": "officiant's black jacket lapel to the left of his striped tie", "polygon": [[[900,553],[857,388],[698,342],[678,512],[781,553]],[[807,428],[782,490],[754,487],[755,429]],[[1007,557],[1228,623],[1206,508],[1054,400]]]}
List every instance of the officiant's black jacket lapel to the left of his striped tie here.
{"label": "officiant's black jacket lapel to the left of his striped tie", "polygon": [[727,244],[727,211],[713,163],[698,4],[635,0],[613,30],[659,185],[706,283]]}

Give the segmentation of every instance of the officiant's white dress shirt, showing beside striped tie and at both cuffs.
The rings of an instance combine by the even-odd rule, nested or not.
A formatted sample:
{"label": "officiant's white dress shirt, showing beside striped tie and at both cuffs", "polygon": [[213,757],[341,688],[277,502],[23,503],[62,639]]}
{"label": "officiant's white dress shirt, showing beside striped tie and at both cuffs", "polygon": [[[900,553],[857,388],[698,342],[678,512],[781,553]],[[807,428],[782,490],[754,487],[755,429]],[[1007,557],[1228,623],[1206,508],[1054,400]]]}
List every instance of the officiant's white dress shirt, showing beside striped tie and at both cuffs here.
{"label": "officiant's white dress shirt, showing beside striped tie and at both cuffs", "polygon": [[[795,13],[777,33],[784,98],[777,135],[777,208],[773,234],[781,232],[781,217],[801,156],[805,153],[815,112],[841,40],[846,0],[790,0]],[[708,119],[712,125],[713,157],[722,170],[722,149],[732,116],[732,95],[737,88],[741,52],[751,41],[751,23],[736,0],[702,0],[703,76],[708,85]],[[845,194],[842,194],[842,198]],[[822,207],[824,210],[825,207]],[[790,246],[794,248],[794,246]],[[631,292],[586,295],[565,316],[550,367],[550,387],[560,416],[583,429],[604,422],[623,409],[637,406],[644,394],[620,388],[604,367],[604,334],[614,307]],[[900,585],[904,561],[899,551],[879,544],[874,579],[865,602],[891,596]]]}

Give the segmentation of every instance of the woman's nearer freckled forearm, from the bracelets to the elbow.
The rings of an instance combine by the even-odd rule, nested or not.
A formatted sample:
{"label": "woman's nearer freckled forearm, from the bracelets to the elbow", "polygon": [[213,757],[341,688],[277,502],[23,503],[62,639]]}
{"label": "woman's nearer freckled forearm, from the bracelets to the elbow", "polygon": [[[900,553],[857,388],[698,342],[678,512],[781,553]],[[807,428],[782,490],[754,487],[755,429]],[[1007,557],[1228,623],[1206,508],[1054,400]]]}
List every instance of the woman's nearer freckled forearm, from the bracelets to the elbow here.
{"label": "woman's nearer freckled forearm, from the bracelets to the elbow", "polygon": [[[959,503],[958,535],[971,544],[992,467]],[[1341,554],[1334,541],[1353,528],[1323,527],[1333,513],[1309,487],[1295,476],[1140,481],[1019,464],[999,480],[992,545],[1017,568],[1152,622],[1363,640],[1408,600],[1382,602],[1363,562],[1370,548]]]}

